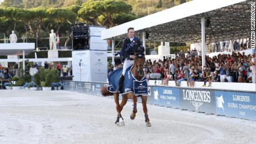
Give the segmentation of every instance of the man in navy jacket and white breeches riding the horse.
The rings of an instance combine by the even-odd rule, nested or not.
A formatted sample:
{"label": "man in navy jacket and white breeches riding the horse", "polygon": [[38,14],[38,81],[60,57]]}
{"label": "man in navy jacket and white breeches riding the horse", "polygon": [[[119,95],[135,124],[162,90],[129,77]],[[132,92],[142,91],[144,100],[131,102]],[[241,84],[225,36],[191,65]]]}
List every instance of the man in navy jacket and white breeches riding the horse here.
{"label": "man in navy jacket and white breeches riding the horse", "polygon": [[125,71],[127,68],[134,64],[134,54],[137,52],[144,52],[145,48],[142,46],[140,39],[134,36],[134,28],[127,29],[128,37],[124,39],[121,49],[121,57],[124,60],[124,67],[122,69],[122,75],[120,76],[117,92],[121,92],[122,83],[124,82]]}

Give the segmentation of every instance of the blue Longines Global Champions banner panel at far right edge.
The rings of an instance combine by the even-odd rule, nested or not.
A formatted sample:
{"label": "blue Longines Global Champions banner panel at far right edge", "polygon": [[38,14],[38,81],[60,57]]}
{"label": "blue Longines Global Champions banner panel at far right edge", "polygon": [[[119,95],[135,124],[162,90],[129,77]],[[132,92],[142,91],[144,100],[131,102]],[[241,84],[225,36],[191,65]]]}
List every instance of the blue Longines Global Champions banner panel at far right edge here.
{"label": "blue Longines Global Champions banner panel at far right edge", "polygon": [[216,114],[256,121],[255,93],[215,91]]}

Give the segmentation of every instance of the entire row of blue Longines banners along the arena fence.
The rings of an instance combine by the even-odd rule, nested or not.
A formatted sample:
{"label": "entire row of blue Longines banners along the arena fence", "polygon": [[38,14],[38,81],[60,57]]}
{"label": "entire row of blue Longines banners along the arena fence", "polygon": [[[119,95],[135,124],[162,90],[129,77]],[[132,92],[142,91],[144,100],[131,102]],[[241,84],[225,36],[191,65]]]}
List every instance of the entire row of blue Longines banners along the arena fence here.
{"label": "entire row of blue Longines banners along the arena fence", "polygon": [[[105,82],[63,81],[67,91],[101,96]],[[256,93],[148,86],[147,103],[256,121]],[[140,101],[140,98],[138,99]]]}

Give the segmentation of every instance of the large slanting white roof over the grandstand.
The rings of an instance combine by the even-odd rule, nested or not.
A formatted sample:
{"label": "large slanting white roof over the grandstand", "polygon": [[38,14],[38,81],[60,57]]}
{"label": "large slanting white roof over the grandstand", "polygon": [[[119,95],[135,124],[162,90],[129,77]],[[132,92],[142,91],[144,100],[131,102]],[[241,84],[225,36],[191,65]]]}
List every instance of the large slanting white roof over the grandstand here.
{"label": "large slanting white roof over the grandstand", "polygon": [[201,17],[210,19],[208,42],[250,36],[250,1],[194,0],[106,29],[101,38],[124,39],[127,28],[134,27],[137,37],[148,32],[149,41],[200,42]]}

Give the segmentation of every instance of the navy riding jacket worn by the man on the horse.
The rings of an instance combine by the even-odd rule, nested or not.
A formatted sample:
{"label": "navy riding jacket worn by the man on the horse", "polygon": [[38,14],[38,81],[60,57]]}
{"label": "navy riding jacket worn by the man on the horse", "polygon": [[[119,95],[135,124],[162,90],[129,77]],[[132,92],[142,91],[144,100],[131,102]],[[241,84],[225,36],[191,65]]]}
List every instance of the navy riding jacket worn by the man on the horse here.
{"label": "navy riding jacket worn by the man on the horse", "polygon": [[130,58],[131,54],[144,51],[145,49],[142,46],[139,38],[134,37],[134,39],[131,41],[130,38],[127,37],[122,43],[121,56],[122,58]]}

